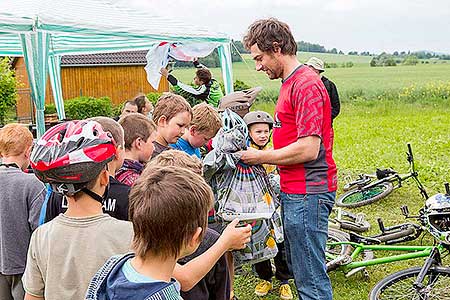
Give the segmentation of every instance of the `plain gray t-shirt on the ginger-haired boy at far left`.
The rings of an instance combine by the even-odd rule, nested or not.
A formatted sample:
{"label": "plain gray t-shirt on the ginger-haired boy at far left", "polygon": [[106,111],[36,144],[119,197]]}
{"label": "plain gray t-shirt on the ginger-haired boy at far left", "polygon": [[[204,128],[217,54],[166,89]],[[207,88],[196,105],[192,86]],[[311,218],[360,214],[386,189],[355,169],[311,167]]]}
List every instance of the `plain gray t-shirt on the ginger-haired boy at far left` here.
{"label": "plain gray t-shirt on the ginger-haired boy at far left", "polygon": [[0,166],[0,273],[22,274],[38,226],[45,186],[34,174]]}

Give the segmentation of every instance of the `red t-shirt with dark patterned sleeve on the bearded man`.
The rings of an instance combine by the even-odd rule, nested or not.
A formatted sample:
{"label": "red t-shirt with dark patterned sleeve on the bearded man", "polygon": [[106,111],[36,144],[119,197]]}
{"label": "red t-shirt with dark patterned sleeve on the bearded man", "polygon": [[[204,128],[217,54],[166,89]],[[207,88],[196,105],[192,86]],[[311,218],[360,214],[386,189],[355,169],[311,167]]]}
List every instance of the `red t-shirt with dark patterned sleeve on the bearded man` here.
{"label": "red t-shirt with dark patterned sleeve on the bearded man", "polygon": [[286,147],[301,137],[320,137],[316,160],[280,165],[281,190],[288,194],[332,192],[337,187],[332,155],[331,103],[320,77],[305,66],[283,81],[275,107],[273,146]]}

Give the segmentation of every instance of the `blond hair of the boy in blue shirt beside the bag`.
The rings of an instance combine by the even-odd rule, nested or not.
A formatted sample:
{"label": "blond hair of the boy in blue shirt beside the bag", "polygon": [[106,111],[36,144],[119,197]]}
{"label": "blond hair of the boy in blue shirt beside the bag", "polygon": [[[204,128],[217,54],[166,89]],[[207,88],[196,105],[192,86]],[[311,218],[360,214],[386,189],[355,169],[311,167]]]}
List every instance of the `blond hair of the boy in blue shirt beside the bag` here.
{"label": "blond hair of the boy in blue shirt beside the bag", "polygon": [[214,107],[203,102],[192,108],[191,126],[199,132],[211,132],[216,135],[222,127],[222,119]]}

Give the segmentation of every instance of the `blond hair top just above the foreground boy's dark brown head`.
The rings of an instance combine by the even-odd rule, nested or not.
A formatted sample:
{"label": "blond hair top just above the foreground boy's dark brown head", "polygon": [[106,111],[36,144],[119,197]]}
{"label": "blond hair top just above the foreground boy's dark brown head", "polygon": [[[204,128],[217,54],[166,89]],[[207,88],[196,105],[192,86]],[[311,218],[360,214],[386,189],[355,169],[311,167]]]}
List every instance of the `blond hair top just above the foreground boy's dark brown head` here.
{"label": "blond hair top just above the foreground boy's dark brown head", "polygon": [[147,164],[143,173],[145,173],[147,168],[154,166],[185,168],[198,175],[203,175],[203,165],[200,159],[196,156],[189,155],[184,151],[175,149],[161,152],[161,154],[153,158]]}

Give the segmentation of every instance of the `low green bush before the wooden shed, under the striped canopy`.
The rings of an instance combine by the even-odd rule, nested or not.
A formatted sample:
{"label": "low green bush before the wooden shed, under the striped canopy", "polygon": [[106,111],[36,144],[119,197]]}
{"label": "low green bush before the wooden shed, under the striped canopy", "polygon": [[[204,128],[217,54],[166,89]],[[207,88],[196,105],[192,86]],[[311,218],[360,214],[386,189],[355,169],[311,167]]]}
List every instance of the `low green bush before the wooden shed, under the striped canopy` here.
{"label": "low green bush before the wooden shed, under the striped canopy", "polygon": [[64,102],[66,117],[72,120],[83,120],[92,117],[111,117],[112,103],[109,97],[77,97]]}

